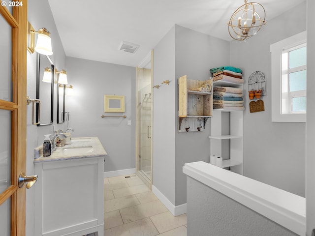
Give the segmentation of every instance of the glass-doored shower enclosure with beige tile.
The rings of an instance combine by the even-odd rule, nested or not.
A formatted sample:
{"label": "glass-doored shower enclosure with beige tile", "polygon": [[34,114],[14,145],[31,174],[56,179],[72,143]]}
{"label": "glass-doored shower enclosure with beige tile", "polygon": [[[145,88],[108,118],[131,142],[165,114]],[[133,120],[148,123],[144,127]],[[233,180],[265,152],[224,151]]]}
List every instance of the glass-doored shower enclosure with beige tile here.
{"label": "glass-doored shower enclosure with beige tile", "polygon": [[[151,59],[151,57],[150,57]],[[136,174],[152,188],[152,73],[151,60],[146,68],[136,68]],[[148,68],[149,67],[149,68]]]}

